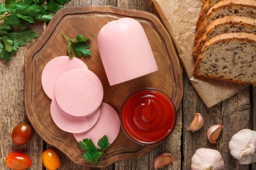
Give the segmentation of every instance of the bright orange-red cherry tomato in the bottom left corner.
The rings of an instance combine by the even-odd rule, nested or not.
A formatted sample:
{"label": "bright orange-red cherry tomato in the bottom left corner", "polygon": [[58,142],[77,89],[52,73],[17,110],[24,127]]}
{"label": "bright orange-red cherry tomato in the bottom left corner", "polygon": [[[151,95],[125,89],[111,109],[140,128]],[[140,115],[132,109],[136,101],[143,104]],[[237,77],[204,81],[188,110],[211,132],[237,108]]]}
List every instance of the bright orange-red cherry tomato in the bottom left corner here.
{"label": "bright orange-red cherry tomato in the bottom left corner", "polygon": [[32,165],[32,160],[26,154],[20,152],[11,152],[5,158],[5,165],[12,169],[27,169]]}

